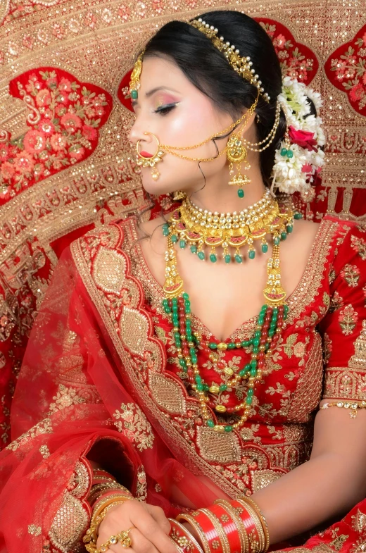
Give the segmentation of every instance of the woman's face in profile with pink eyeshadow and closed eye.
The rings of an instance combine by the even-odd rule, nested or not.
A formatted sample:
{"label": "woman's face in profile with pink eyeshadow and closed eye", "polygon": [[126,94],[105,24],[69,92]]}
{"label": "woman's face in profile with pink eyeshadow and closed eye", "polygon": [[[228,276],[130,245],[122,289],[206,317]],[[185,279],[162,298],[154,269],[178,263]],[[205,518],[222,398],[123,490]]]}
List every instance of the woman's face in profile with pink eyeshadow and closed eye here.
{"label": "woman's face in profile with pink eyeshadow and closed eye", "polygon": [[[134,101],[136,120],[130,132],[130,141],[139,143],[143,155],[154,154],[160,144],[187,147],[203,142],[224,130],[232,123],[229,113],[220,111],[205,94],[200,92],[182,71],[165,58],[144,59],[139,88],[139,98]],[[227,138],[217,140],[219,151],[225,149]],[[212,141],[196,149],[177,151],[194,158],[210,158],[217,155]],[[203,175],[197,161],[179,159],[170,153],[157,163],[160,173],[153,180],[151,168],[141,168],[142,184],[151,194],[166,194],[175,190],[193,192],[203,187]],[[215,161],[201,163],[206,179],[212,175],[225,178],[228,172],[225,154]]]}

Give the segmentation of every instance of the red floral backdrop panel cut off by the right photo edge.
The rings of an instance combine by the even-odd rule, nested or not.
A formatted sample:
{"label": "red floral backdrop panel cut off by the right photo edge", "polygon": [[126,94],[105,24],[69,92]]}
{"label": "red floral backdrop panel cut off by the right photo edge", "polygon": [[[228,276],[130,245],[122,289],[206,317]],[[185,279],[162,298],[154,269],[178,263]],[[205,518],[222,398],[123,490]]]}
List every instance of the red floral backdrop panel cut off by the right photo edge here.
{"label": "red floral backdrop panel cut off by the right photo edge", "polygon": [[325,63],[332,84],[346,92],[351,106],[366,115],[366,25],[350,42],[340,46]]}

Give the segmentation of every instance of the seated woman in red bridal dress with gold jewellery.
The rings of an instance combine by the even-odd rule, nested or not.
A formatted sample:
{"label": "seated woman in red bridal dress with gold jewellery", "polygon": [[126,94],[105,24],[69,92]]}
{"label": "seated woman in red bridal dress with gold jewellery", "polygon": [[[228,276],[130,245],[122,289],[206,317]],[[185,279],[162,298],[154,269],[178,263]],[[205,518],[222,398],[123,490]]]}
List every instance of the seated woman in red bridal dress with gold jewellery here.
{"label": "seated woman in red bridal dress with gold jewellery", "polygon": [[63,254],[1,455],[1,551],[363,551],[365,232],[290,195],[322,165],[317,94],[233,11],[160,29],[130,94],[144,188],[177,203]]}

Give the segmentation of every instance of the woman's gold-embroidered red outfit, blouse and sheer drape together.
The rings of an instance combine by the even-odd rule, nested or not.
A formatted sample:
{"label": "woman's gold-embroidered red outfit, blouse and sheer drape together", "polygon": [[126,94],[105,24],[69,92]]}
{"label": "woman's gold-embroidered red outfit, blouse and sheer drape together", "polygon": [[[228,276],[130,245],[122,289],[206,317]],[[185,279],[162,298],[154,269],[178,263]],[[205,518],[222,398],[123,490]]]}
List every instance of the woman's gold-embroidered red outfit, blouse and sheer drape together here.
{"label": "woman's gold-embroidered red outfit, blouse and sheer drape together", "polygon": [[[1,552],[83,550],[88,459],[175,516],[255,492],[306,461],[321,398],[366,399],[365,229],[322,220],[251,418],[240,433],[221,435],[202,425],[184,385],[163,290],[136,225],[130,218],[89,232],[56,268],[15,392],[14,441],[0,455]],[[246,340],[254,328],[255,318],[230,340]],[[237,351],[221,352],[222,360],[241,366],[249,354]],[[207,354],[199,355],[205,380],[218,382]],[[295,543],[293,552],[365,551],[366,500]]]}

